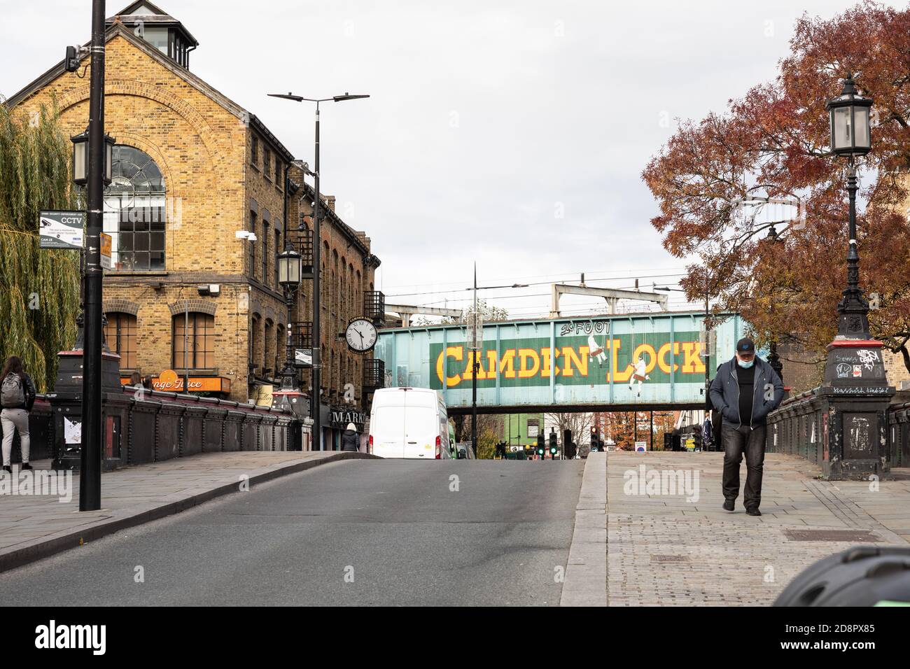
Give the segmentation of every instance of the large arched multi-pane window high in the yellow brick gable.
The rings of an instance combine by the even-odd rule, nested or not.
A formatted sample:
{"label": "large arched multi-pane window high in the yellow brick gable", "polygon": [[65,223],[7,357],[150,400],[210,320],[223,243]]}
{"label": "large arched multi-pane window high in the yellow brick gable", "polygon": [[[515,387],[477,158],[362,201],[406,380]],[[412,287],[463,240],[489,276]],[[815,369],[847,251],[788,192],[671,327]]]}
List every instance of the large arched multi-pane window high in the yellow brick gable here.
{"label": "large arched multi-pane window high in the yellow brick gable", "polygon": [[165,181],[145,151],[117,145],[104,231],[115,270],[165,269]]}

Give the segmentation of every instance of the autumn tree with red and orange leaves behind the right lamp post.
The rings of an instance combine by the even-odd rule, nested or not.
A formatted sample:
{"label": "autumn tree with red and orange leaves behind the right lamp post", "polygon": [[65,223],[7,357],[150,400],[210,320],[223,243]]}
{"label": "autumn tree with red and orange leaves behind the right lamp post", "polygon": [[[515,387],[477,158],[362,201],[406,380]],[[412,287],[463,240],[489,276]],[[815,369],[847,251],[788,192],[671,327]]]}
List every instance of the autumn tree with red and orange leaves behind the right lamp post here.
{"label": "autumn tree with red and orange leaves behind the right lamp post", "polygon": [[[910,9],[873,2],[829,20],[804,15],[772,82],[733,99],[722,113],[682,121],[642,178],[660,213],[652,226],[672,255],[692,258],[682,288],[739,311],[760,343],[802,344],[823,356],[836,332],[846,285],[846,166],[829,155],[825,103],[853,75],[875,99],[873,149],[857,166],[860,287],[879,295],[873,336],[910,370]],[[743,206],[785,198],[775,215]]]}

